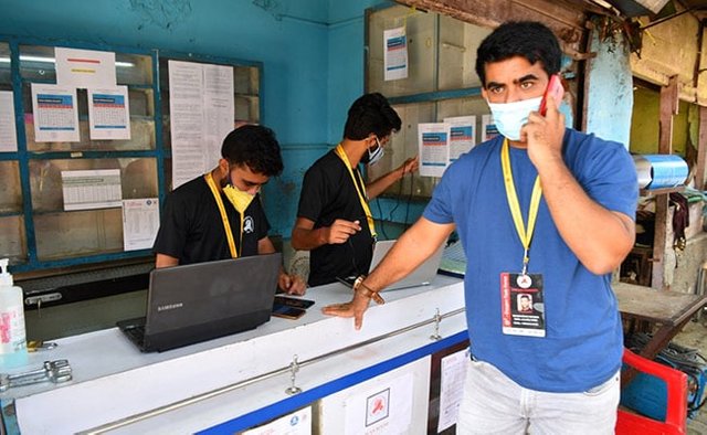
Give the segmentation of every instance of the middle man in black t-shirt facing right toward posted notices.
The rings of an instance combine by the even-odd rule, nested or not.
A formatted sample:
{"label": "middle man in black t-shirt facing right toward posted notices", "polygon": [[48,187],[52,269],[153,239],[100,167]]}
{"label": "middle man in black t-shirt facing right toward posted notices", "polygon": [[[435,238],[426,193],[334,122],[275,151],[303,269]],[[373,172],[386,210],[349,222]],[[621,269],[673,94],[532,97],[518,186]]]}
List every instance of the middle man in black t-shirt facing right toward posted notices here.
{"label": "middle man in black t-shirt facing right toward posted notices", "polygon": [[305,174],[292,246],[312,251],[309,285],[334,283],[367,272],[376,225],[368,202],[393,182],[418,169],[418,158],[369,184],[359,163],[376,165],[383,157],[400,117],[381,94],[359,97],[348,112],[344,140],[317,160]]}

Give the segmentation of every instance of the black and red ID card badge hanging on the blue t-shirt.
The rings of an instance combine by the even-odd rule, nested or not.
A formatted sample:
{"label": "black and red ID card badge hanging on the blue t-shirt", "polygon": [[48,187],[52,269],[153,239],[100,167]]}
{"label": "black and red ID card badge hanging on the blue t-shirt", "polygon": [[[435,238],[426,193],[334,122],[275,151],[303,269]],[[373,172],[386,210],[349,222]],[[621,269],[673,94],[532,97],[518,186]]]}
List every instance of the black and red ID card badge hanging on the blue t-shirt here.
{"label": "black and red ID card badge hanging on the blue t-shirt", "polygon": [[545,337],[542,275],[502,273],[500,297],[505,335]]}

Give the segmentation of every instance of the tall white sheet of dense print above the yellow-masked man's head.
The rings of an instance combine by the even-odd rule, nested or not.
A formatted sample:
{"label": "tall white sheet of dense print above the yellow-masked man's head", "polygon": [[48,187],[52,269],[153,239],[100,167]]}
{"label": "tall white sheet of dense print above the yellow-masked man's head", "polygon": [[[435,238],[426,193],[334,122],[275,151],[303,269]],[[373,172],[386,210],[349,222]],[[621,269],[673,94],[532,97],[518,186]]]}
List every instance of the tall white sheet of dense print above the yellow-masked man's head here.
{"label": "tall white sheet of dense print above the yellow-masked man's head", "polygon": [[169,61],[172,188],[213,169],[233,130],[233,67]]}

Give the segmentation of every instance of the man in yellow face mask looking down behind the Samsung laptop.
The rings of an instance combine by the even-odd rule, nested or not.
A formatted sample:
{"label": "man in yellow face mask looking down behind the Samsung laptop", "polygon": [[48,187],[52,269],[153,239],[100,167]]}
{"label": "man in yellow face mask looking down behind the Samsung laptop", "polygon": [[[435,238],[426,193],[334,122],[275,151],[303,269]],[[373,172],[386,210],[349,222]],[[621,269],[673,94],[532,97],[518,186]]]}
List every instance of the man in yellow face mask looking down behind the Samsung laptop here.
{"label": "man in yellow face mask looking down behind the Samsung laptop", "polygon": [[[219,166],[172,191],[154,251],[156,267],[271,254],[270,224],[258,191],[283,170],[273,131],[245,125],[231,131],[221,147]],[[305,293],[305,283],[283,270],[281,289]]]}

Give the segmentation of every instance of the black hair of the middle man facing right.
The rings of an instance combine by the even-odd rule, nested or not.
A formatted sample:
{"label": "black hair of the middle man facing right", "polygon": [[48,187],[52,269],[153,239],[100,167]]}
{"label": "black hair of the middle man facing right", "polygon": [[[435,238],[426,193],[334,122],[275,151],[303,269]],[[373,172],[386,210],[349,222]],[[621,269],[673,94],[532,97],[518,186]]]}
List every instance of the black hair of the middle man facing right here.
{"label": "black hair of the middle man facing right", "polygon": [[383,138],[400,130],[402,121],[390,106],[388,99],[379,93],[359,97],[349,108],[344,127],[344,137],[349,140],[362,140],[371,132]]}

